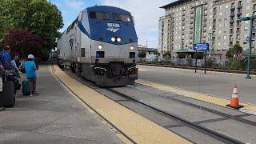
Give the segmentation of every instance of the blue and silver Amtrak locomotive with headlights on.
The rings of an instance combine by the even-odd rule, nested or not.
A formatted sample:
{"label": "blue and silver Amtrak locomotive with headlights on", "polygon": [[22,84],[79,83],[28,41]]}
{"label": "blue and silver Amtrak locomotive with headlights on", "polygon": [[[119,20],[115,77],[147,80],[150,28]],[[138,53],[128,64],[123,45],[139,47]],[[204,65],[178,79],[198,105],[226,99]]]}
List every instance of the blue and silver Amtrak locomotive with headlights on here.
{"label": "blue and silver Amtrak locomotive with headlights on", "polygon": [[98,86],[126,86],[138,78],[138,37],[130,12],[86,8],[58,38],[58,64]]}

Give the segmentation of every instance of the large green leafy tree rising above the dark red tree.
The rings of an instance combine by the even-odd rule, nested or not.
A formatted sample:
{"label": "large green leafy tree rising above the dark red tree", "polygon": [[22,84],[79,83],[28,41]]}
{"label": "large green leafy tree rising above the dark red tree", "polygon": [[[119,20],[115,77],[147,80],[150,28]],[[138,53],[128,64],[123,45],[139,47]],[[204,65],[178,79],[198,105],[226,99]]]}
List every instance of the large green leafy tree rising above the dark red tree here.
{"label": "large green leafy tree rising above the dark red tree", "polygon": [[10,28],[25,29],[42,38],[43,51],[56,46],[62,14],[47,0],[0,0],[0,42]]}

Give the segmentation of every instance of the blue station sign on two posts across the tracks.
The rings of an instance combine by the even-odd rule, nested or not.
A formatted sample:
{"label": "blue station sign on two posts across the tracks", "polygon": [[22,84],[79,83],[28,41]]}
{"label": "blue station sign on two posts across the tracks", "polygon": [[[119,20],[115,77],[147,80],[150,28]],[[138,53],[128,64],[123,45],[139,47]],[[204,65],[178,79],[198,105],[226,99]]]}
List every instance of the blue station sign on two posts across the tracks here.
{"label": "blue station sign on two posts across the tracks", "polygon": [[[206,54],[207,54],[207,50],[210,50],[209,48],[209,43],[195,43],[194,44],[194,50],[196,51],[196,54],[198,51],[205,51],[205,74],[206,74]],[[197,73],[197,64],[198,64],[198,58],[196,57],[195,60],[195,73]]]}

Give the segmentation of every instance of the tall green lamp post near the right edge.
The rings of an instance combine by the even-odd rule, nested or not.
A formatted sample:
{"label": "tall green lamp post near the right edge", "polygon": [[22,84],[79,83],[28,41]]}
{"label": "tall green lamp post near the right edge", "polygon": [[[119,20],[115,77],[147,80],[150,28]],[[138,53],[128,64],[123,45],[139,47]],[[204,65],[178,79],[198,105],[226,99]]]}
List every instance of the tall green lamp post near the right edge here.
{"label": "tall green lamp post near the right edge", "polygon": [[248,49],[248,56],[247,56],[247,75],[246,75],[247,79],[251,78],[250,77],[250,60],[251,60],[251,46],[252,46],[254,19],[256,19],[255,15],[252,17],[241,18],[242,21],[250,21],[250,38],[249,38],[249,49]]}

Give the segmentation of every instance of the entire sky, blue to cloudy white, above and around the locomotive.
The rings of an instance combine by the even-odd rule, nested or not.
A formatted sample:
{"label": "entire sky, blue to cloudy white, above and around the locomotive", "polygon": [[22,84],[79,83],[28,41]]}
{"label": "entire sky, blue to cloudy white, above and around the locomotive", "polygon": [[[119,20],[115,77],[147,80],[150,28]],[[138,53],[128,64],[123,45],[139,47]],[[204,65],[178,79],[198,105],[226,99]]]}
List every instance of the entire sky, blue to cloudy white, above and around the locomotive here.
{"label": "entire sky, blue to cloudy white, above and around the locomotive", "polygon": [[[50,0],[49,0],[50,1]],[[174,0],[51,0],[62,11],[64,28],[78,16],[79,11],[95,5],[117,6],[130,11],[134,16],[138,34],[138,43],[157,48],[158,46],[158,18],[165,14],[160,9]]]}

